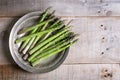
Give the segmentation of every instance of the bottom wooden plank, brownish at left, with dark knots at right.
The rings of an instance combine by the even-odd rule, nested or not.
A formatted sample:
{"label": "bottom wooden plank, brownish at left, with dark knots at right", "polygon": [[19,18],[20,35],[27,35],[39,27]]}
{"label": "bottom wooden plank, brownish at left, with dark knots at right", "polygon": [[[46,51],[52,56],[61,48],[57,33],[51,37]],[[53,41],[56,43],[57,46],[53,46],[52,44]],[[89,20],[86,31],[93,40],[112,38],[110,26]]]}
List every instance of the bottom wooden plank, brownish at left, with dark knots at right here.
{"label": "bottom wooden plank, brownish at left, with dark knots at right", "polygon": [[16,65],[0,65],[1,80],[119,80],[119,64],[61,65],[45,74],[31,74]]}

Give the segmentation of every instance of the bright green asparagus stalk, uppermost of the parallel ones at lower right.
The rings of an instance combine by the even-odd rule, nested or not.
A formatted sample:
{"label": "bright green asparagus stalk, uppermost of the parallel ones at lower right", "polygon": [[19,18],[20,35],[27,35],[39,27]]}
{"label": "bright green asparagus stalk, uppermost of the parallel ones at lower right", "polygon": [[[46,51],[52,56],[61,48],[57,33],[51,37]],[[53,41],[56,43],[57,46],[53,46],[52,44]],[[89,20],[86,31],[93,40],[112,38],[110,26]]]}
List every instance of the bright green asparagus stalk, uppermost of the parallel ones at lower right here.
{"label": "bright green asparagus stalk, uppermost of the parallel ones at lower right", "polygon": [[45,44],[47,44],[48,42],[52,41],[53,39],[55,39],[56,37],[60,36],[61,34],[64,34],[66,31],[68,31],[68,29],[62,29],[57,34],[53,35],[52,37],[50,37],[50,38],[42,41],[39,45],[35,46],[33,49],[31,49],[29,51],[29,53],[30,54],[34,53],[35,51],[37,51],[38,49],[40,49],[42,46],[44,46]]}

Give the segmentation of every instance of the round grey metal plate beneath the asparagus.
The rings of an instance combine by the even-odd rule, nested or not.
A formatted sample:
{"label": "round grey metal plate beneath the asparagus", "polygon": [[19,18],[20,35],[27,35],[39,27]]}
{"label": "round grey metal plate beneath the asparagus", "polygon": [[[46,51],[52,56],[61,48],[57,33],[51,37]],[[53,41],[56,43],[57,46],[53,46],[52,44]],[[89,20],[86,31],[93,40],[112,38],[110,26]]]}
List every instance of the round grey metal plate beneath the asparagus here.
{"label": "round grey metal plate beneath the asparagus", "polygon": [[18,48],[20,44],[15,44],[14,41],[19,37],[17,32],[23,28],[36,23],[36,20],[39,19],[41,12],[31,12],[20,18],[15,25],[13,26],[10,37],[9,37],[9,48],[11,55],[14,61],[24,70],[32,73],[45,73],[52,71],[59,67],[63,61],[65,60],[66,56],[68,55],[69,48],[65,51],[50,57],[47,60],[41,61],[41,63],[36,66],[32,67],[30,64],[22,59],[21,54],[18,52]]}

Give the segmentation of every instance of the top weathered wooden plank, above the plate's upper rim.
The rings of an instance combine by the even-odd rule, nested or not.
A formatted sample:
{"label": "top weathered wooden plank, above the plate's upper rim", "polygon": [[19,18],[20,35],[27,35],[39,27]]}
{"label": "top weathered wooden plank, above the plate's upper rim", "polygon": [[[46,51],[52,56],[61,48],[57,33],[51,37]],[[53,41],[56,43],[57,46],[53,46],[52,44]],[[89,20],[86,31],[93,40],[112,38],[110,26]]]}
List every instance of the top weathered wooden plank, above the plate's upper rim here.
{"label": "top weathered wooden plank, above the plate's upper rim", "polygon": [[119,0],[0,0],[0,16],[22,16],[52,6],[58,16],[120,16]]}

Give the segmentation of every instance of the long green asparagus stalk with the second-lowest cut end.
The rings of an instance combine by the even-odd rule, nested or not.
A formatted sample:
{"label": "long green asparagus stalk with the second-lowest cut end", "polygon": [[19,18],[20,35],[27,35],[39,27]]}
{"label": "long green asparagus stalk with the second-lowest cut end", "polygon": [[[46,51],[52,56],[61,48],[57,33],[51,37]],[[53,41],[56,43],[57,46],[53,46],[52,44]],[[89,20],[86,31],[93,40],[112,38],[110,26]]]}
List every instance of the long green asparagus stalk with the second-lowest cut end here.
{"label": "long green asparagus stalk with the second-lowest cut end", "polygon": [[64,39],[65,37],[67,37],[69,35],[69,32],[66,32],[65,34],[62,34],[60,36],[58,36],[56,39],[54,39],[53,41],[51,41],[50,43],[46,44],[45,46],[43,46],[41,49],[39,49],[37,52],[35,52],[33,55],[31,55],[28,58],[28,61],[32,60],[33,58],[35,58],[40,52],[42,52],[43,50],[45,50],[46,48],[48,48],[49,46],[53,45],[54,43]]}

